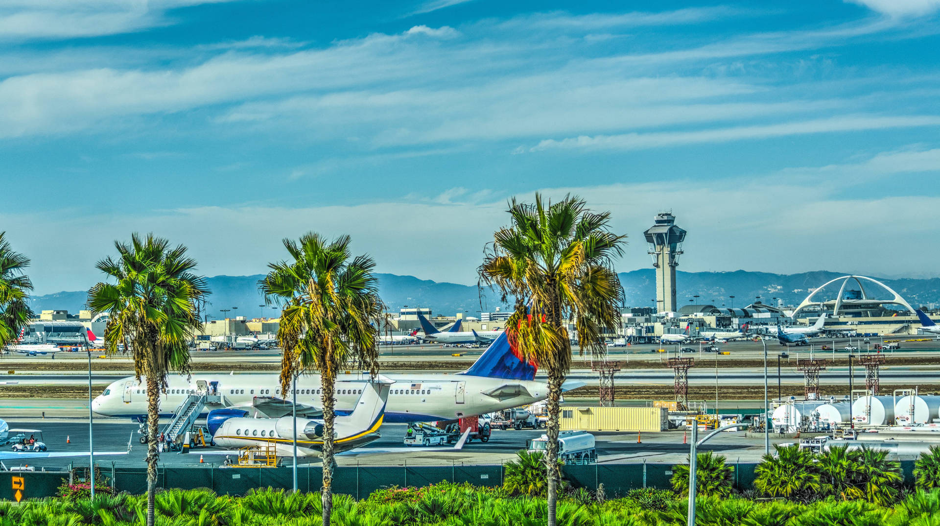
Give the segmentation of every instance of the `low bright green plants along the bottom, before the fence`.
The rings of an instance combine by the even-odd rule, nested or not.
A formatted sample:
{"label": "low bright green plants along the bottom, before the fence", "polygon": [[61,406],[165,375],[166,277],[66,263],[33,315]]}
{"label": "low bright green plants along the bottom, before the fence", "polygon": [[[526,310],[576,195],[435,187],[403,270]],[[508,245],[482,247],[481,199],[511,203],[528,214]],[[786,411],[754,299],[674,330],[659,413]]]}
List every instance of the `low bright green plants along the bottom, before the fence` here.
{"label": "low bright green plants along the bottom, before the fence", "polygon": [[[666,526],[685,523],[687,502],[667,490],[635,490],[604,499],[571,490],[558,504],[563,526]],[[0,526],[139,526],[142,496],[100,496],[94,501],[41,499],[0,502]],[[271,488],[243,497],[219,496],[207,489],[166,490],[157,495],[158,526],[313,526],[321,523],[319,493],[290,494]],[[511,497],[502,488],[442,483],[389,487],[355,501],[336,495],[334,524],[342,526],[530,526],[545,523],[545,502]],[[756,501],[742,496],[700,497],[697,523],[745,526],[903,526],[940,524],[940,490],[917,491],[893,506],[869,502],[811,503]]]}

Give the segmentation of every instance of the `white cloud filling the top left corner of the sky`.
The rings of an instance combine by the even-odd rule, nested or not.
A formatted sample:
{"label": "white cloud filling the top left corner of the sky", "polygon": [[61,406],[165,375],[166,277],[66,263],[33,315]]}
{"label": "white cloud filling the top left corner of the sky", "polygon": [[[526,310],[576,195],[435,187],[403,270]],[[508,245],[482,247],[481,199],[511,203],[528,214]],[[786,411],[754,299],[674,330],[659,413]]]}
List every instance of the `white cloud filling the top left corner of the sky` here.
{"label": "white cloud filling the top left corner of the sky", "polygon": [[5,0],[0,40],[97,37],[170,24],[167,10],[231,0]]}

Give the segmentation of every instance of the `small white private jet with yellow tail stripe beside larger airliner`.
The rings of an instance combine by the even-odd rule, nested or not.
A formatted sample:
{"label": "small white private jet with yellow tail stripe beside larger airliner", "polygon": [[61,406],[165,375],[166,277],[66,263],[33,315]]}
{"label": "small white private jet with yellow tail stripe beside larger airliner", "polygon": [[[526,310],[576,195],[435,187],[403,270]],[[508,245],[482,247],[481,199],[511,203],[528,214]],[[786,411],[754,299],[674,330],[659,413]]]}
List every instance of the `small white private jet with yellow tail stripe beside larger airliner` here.
{"label": "small white private jet with yellow tail stripe beside larger airliner", "polygon": [[[384,420],[384,411],[390,387],[395,382],[380,376],[379,382],[367,382],[349,416],[337,417],[334,423],[334,447],[337,453],[349,451],[381,438],[379,426]],[[230,409],[221,409],[227,412]],[[224,420],[208,417],[209,432],[215,445],[227,449],[245,446],[274,444],[277,454],[290,455],[293,450],[296,424],[297,455],[320,456],[323,447],[323,421],[321,419],[294,418],[245,418],[227,417]]]}

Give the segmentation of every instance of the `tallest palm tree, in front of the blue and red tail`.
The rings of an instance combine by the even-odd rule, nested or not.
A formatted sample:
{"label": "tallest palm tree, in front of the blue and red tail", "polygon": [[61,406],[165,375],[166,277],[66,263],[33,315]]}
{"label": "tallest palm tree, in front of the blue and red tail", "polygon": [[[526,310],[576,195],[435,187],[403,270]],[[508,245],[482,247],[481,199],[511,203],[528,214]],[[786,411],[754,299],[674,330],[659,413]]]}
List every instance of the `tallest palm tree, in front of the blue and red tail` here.
{"label": "tallest palm tree, in front of the blue and red tail", "polygon": [[[624,238],[608,230],[610,213],[592,213],[583,199],[566,196],[556,203],[509,201],[511,223],[494,233],[478,268],[480,281],[511,296],[515,311],[506,330],[509,343],[524,359],[548,373],[548,524],[556,524],[558,399],[571,370],[573,321],[581,353],[601,356],[603,330],[616,327],[623,295],[612,259],[623,252]],[[530,315],[531,314],[531,315]]]}

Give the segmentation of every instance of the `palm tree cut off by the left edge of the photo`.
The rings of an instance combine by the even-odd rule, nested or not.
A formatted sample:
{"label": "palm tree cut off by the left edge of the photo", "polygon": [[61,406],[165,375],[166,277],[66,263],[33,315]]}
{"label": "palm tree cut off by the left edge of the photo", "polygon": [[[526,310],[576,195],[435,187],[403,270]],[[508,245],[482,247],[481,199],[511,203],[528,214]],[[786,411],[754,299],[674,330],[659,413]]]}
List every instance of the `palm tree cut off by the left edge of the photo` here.
{"label": "palm tree cut off by the left edge of the photo", "polygon": [[0,232],[0,349],[20,337],[33,311],[26,304],[33,283],[24,274],[29,258],[14,252],[7,241],[7,232]]}

